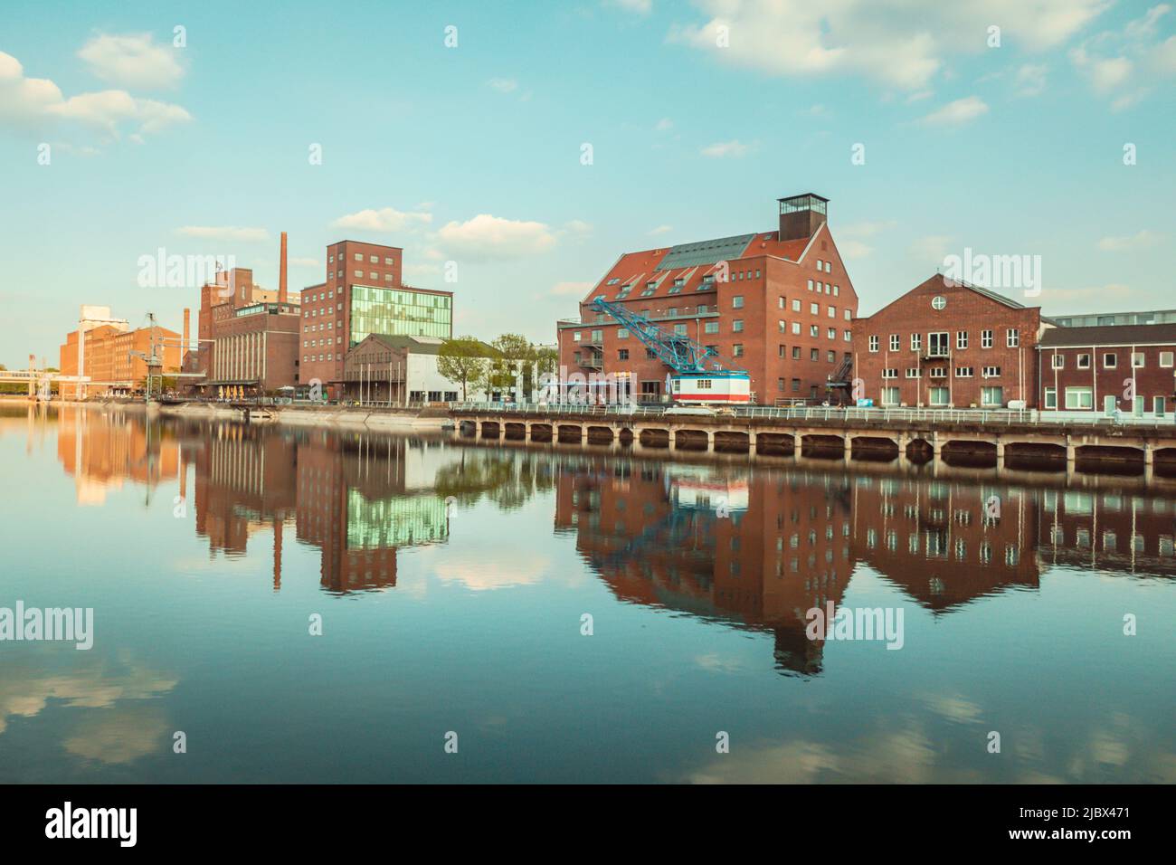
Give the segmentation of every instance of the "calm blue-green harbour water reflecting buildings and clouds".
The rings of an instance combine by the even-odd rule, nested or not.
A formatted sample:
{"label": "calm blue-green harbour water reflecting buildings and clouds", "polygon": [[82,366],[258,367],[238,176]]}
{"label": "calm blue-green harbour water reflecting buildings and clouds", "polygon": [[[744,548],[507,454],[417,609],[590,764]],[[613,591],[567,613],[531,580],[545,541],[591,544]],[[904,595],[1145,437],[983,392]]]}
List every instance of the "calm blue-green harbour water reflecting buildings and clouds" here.
{"label": "calm blue-green harbour water reflecting buildings and clouds", "polygon": [[24,406],[0,465],[0,607],[95,617],[0,643],[2,783],[1176,781],[1168,481]]}

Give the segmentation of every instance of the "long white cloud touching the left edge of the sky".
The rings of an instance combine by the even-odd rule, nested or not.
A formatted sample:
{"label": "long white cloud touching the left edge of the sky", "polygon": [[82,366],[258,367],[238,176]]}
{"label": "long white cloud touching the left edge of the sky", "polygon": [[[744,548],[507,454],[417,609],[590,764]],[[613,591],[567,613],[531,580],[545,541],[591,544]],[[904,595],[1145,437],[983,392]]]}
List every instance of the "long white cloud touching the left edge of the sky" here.
{"label": "long white cloud touching the left edge of the sky", "polygon": [[0,52],[0,120],[29,128],[78,124],[112,139],[131,129],[131,139],[142,144],[145,134],[191,119],[192,115],[179,105],[140,99],[126,91],[80,93],[66,99],[53,81],[25,78],[16,58]]}

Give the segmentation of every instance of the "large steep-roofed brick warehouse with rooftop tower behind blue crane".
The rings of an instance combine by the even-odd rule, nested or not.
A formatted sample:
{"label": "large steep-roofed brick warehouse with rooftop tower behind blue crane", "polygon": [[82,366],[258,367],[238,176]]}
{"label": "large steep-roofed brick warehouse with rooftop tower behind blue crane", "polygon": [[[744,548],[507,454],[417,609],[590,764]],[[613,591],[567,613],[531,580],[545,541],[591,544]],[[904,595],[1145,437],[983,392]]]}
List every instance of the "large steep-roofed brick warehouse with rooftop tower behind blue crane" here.
{"label": "large steep-roofed brick warehouse with rooftop tower behind blue crane", "polygon": [[857,294],[827,224],[828,199],[779,199],[776,231],[624,253],[556,325],[567,372],[617,374],[634,398],[662,401],[670,368],[596,298],[713,347],[747,370],[754,401],[824,400],[844,375]]}

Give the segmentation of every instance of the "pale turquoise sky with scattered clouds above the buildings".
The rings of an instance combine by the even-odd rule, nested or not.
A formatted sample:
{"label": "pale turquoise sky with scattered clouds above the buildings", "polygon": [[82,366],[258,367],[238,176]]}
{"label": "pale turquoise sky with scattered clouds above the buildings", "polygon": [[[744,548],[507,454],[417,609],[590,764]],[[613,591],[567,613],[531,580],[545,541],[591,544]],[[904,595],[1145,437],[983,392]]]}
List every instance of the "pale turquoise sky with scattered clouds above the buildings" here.
{"label": "pale turquoise sky with scattered clouds above the buildings", "polygon": [[456,333],[554,342],[622,253],[803,192],[863,315],[965,254],[1030,257],[1047,315],[1174,308],[1174,87],[1165,2],[7,0],[0,364],[82,304],[194,327],[142,257],[276,288],[282,231],[292,290],[400,246]]}

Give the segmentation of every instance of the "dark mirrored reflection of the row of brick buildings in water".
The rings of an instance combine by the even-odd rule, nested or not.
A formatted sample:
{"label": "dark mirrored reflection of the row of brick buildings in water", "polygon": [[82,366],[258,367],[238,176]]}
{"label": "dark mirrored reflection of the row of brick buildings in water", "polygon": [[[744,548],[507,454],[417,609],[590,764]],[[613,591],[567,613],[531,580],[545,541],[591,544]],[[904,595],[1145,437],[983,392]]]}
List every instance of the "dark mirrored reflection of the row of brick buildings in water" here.
{"label": "dark mirrored reflection of the row of brick buildings in water", "polygon": [[[245,555],[273,533],[321,554],[329,592],[396,585],[397,551],[448,540],[447,499],[500,508],[554,495],[554,527],[624,603],[770,631],[779,670],[811,676],[806,612],[841,605],[861,566],[934,614],[1038,587],[1054,566],[1171,577],[1170,490],[1118,478],[927,477],[804,459],[748,466],[497,448],[298,427],[152,421],[61,408],[58,457],[78,501],[129,479],[194,474],[196,532]],[[31,421],[32,422],[32,421]]]}

